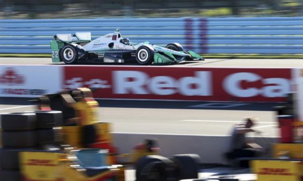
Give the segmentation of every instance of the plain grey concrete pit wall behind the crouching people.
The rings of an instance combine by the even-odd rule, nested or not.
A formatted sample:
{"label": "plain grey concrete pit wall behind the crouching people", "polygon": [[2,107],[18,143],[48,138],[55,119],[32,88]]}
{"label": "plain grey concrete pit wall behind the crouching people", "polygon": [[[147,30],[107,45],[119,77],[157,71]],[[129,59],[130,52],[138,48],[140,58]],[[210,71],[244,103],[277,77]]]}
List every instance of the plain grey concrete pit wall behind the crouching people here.
{"label": "plain grey concrete pit wall behind the crouching people", "polygon": [[[227,150],[228,136],[192,136],[192,135],[153,135],[114,133],[114,144],[120,153],[129,153],[130,150],[146,138],[159,140],[161,155],[195,153],[200,155],[204,163],[226,163],[223,153]],[[277,138],[252,138],[263,147],[271,148],[271,143]],[[270,154],[268,152],[267,154]]]}

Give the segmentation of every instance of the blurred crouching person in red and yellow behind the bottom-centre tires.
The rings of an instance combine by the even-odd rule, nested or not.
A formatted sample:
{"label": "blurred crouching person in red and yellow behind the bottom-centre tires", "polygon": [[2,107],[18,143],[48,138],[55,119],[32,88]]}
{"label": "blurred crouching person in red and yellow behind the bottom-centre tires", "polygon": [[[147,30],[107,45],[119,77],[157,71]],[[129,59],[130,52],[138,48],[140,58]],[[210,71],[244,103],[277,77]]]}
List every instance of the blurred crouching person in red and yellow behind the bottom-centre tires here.
{"label": "blurred crouching person in red and yellow behind the bottom-centre tires", "polygon": [[145,139],[143,143],[136,145],[132,149],[130,161],[135,163],[143,156],[159,154],[160,148],[157,145],[158,141],[156,139]]}

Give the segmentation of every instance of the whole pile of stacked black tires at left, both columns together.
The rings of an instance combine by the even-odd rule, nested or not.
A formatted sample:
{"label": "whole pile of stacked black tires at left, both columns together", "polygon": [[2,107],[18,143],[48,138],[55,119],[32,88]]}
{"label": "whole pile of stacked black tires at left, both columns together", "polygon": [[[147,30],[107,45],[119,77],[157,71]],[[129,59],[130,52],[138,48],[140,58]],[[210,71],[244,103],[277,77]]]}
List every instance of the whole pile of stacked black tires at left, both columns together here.
{"label": "whole pile of stacked black tires at left, both columns together", "polygon": [[2,145],[0,151],[0,180],[22,180],[19,153],[44,150],[61,141],[61,111],[33,111],[5,113],[1,115]]}

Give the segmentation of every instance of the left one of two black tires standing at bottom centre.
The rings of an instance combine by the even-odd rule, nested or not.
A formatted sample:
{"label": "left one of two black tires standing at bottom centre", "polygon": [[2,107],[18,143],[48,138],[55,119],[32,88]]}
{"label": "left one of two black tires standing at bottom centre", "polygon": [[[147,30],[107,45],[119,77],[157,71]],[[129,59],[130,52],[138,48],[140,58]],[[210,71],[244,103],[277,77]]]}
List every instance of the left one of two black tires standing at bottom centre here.
{"label": "left one of two black tires standing at bottom centre", "polygon": [[159,155],[148,155],[135,163],[136,181],[178,180],[175,164]]}

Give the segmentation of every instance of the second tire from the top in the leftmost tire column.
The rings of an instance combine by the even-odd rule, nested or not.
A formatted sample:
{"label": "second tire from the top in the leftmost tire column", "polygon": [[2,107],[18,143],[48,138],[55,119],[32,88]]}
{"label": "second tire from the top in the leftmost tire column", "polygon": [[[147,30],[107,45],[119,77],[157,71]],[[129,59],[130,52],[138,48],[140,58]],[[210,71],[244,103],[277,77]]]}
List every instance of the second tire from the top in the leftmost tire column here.
{"label": "second tire from the top in the leftmost tire column", "polygon": [[36,131],[2,132],[3,147],[32,147],[37,145]]}

